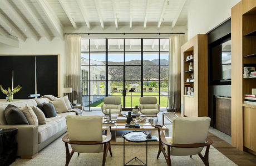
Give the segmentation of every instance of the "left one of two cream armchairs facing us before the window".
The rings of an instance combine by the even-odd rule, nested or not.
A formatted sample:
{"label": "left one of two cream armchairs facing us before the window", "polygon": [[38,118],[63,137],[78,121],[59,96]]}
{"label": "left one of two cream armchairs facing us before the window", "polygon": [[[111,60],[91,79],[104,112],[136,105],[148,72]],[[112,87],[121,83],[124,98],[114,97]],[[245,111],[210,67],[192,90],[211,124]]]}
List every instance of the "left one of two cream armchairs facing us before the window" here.
{"label": "left one of two cream armchairs facing us before the window", "polygon": [[104,114],[109,114],[109,109],[111,113],[120,113],[122,111],[121,97],[105,97],[104,103],[101,105],[101,111]]}

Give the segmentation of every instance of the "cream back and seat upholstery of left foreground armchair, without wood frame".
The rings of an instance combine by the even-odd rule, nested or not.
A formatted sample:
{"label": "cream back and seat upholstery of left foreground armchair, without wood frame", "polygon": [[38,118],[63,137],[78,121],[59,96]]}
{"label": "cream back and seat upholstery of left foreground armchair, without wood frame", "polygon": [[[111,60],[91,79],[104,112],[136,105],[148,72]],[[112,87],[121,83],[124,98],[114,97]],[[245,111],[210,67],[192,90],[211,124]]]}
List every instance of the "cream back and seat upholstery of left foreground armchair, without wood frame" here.
{"label": "cream back and seat upholstery of left foreground armchair, without wood frame", "polygon": [[[67,115],[67,133],[71,141],[102,141],[101,116]],[[103,151],[102,144],[81,146],[71,144],[73,151],[81,153],[99,153]]]}

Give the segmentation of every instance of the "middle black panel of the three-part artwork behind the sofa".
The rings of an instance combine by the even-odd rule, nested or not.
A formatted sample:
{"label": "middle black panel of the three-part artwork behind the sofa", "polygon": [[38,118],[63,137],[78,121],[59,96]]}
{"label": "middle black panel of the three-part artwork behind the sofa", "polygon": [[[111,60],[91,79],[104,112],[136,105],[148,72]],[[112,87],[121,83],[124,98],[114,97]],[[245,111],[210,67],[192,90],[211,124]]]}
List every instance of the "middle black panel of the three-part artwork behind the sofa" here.
{"label": "middle black panel of the three-part artwork behind the sofa", "polygon": [[28,99],[35,94],[35,56],[13,56],[13,87],[22,89],[13,95],[14,99]]}

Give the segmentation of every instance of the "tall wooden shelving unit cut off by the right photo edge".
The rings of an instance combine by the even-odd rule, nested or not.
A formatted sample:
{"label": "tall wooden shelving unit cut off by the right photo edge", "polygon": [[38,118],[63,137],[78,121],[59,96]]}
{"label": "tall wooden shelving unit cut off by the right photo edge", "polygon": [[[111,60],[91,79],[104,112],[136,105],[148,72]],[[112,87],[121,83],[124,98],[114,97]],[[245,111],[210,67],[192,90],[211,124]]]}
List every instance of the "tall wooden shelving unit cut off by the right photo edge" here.
{"label": "tall wooden shelving unit cut off by the right photo edge", "polygon": [[243,77],[244,66],[256,66],[256,1],[242,0],[231,13],[232,145],[256,154],[256,106],[244,103],[256,77]]}

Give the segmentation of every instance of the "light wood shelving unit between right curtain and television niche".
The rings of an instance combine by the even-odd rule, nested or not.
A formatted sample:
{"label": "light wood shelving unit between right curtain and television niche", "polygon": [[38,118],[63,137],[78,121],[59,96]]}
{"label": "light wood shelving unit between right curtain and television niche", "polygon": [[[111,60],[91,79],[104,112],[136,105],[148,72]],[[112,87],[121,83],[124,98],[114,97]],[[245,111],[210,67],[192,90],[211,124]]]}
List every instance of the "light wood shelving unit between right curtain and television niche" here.
{"label": "light wood shelving unit between right curtain and television niche", "polygon": [[[208,51],[207,35],[198,34],[181,46],[181,116],[208,116]],[[186,60],[193,55],[193,59]],[[189,64],[194,70],[189,70]],[[194,82],[187,82],[192,79]],[[185,85],[194,89],[194,95],[187,95]],[[200,87],[200,88],[199,88]]]}

